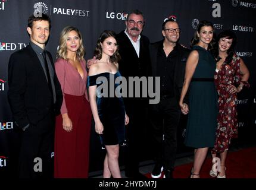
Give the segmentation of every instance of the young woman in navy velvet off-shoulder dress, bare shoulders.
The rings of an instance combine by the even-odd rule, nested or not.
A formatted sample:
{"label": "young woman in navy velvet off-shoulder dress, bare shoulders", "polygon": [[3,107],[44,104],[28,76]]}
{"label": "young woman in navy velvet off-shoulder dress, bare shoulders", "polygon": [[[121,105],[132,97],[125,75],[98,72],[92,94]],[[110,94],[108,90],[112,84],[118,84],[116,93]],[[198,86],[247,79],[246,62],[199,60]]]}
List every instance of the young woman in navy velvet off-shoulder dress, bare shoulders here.
{"label": "young woman in navy velvet off-shoulder dress, bare shoulders", "polygon": [[[103,178],[111,176],[121,178],[118,164],[119,144],[124,140],[124,125],[128,124],[129,118],[124,110],[123,99],[119,97],[120,94],[110,96],[118,91],[119,86],[119,84],[110,83],[114,82],[117,77],[121,77],[118,72],[120,55],[114,31],[104,31],[101,34],[95,49],[95,56],[98,62],[90,66],[88,86],[95,131],[101,136],[101,142],[107,150]],[[114,89],[111,89],[111,85]]]}

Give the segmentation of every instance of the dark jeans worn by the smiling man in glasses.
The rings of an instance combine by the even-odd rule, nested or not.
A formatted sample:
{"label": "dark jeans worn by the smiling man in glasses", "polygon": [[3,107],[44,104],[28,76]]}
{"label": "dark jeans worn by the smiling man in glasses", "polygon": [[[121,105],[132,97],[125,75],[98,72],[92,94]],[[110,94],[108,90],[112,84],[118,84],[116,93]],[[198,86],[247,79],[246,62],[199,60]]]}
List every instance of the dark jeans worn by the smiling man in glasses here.
{"label": "dark jeans worn by the smiling man in glasses", "polygon": [[173,170],[177,151],[177,126],[180,108],[174,97],[160,100],[157,105],[149,106],[152,125],[155,161],[165,170]]}

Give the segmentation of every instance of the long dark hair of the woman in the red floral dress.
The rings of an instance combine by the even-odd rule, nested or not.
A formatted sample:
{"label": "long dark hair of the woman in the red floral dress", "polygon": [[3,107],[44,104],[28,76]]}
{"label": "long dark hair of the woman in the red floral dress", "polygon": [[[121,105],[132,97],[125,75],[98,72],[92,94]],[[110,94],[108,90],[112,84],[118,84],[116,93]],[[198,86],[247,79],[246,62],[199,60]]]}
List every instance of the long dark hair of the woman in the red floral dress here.
{"label": "long dark hair of the woman in the red floral dress", "polygon": [[218,43],[220,41],[221,38],[226,38],[226,39],[233,39],[232,41],[232,45],[229,47],[229,49],[227,50],[227,58],[226,58],[226,63],[229,64],[232,61],[233,55],[235,53],[235,46],[236,46],[236,34],[233,33],[233,31],[231,30],[224,30],[221,31],[221,33],[218,34],[217,39],[216,39],[216,44],[214,45],[213,48],[213,56],[216,59],[216,61],[220,61],[220,56],[218,56]]}

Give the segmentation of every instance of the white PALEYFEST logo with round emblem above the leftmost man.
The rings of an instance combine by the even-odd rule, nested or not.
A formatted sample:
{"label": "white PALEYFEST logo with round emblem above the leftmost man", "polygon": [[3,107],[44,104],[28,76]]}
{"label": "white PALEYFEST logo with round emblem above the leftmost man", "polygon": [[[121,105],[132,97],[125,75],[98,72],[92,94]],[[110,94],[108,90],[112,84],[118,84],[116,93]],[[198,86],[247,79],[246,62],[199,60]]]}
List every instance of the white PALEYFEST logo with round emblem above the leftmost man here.
{"label": "white PALEYFEST logo with round emblem above the leftmost man", "polygon": [[[81,10],[81,9],[69,9],[69,8],[59,8],[50,6],[50,14],[63,14],[63,15],[72,15],[72,16],[79,16],[79,17],[88,17],[89,12],[88,10]],[[35,17],[42,17],[42,13],[47,13],[48,7],[44,2],[38,2],[34,4],[34,15]]]}

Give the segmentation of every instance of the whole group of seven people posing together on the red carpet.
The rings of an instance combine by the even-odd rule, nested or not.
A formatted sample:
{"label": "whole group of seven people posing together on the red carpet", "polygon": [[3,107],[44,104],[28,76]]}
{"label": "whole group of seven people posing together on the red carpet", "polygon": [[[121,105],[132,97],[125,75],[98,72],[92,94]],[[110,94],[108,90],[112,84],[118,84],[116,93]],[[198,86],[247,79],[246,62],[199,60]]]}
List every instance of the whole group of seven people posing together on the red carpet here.
{"label": "whole group of seven people posing together on the red carpet", "polygon": [[[164,178],[173,178],[181,113],[188,114],[185,145],[195,148],[191,178],[199,178],[210,147],[212,156],[220,153],[221,160],[220,170],[213,167],[210,175],[226,177],[227,150],[237,134],[236,93],[249,86],[249,71],[235,54],[235,34],[223,31],[214,44],[213,24],[201,21],[189,50],[178,43],[181,30],[175,17],[164,21],[164,39],[151,44],[141,34],[141,11],[131,11],[125,24],[119,34],[101,33],[95,57],[87,63],[82,34],[65,27],[54,64],[45,50],[51,20],[46,14],[29,17],[30,44],[11,55],[8,69],[8,100],[22,129],[20,178],[53,173],[55,178],[88,178],[92,118],[107,151],[104,178],[121,178],[118,156],[124,138],[126,176],[144,177],[139,162],[146,130],[152,130],[152,178],[160,178],[163,171]],[[149,76],[161,77],[158,104],[149,105],[142,97],[99,96],[99,85],[110,85],[110,78]],[[114,84],[115,90],[119,87]],[[40,172],[35,172],[36,157],[43,162]]]}

